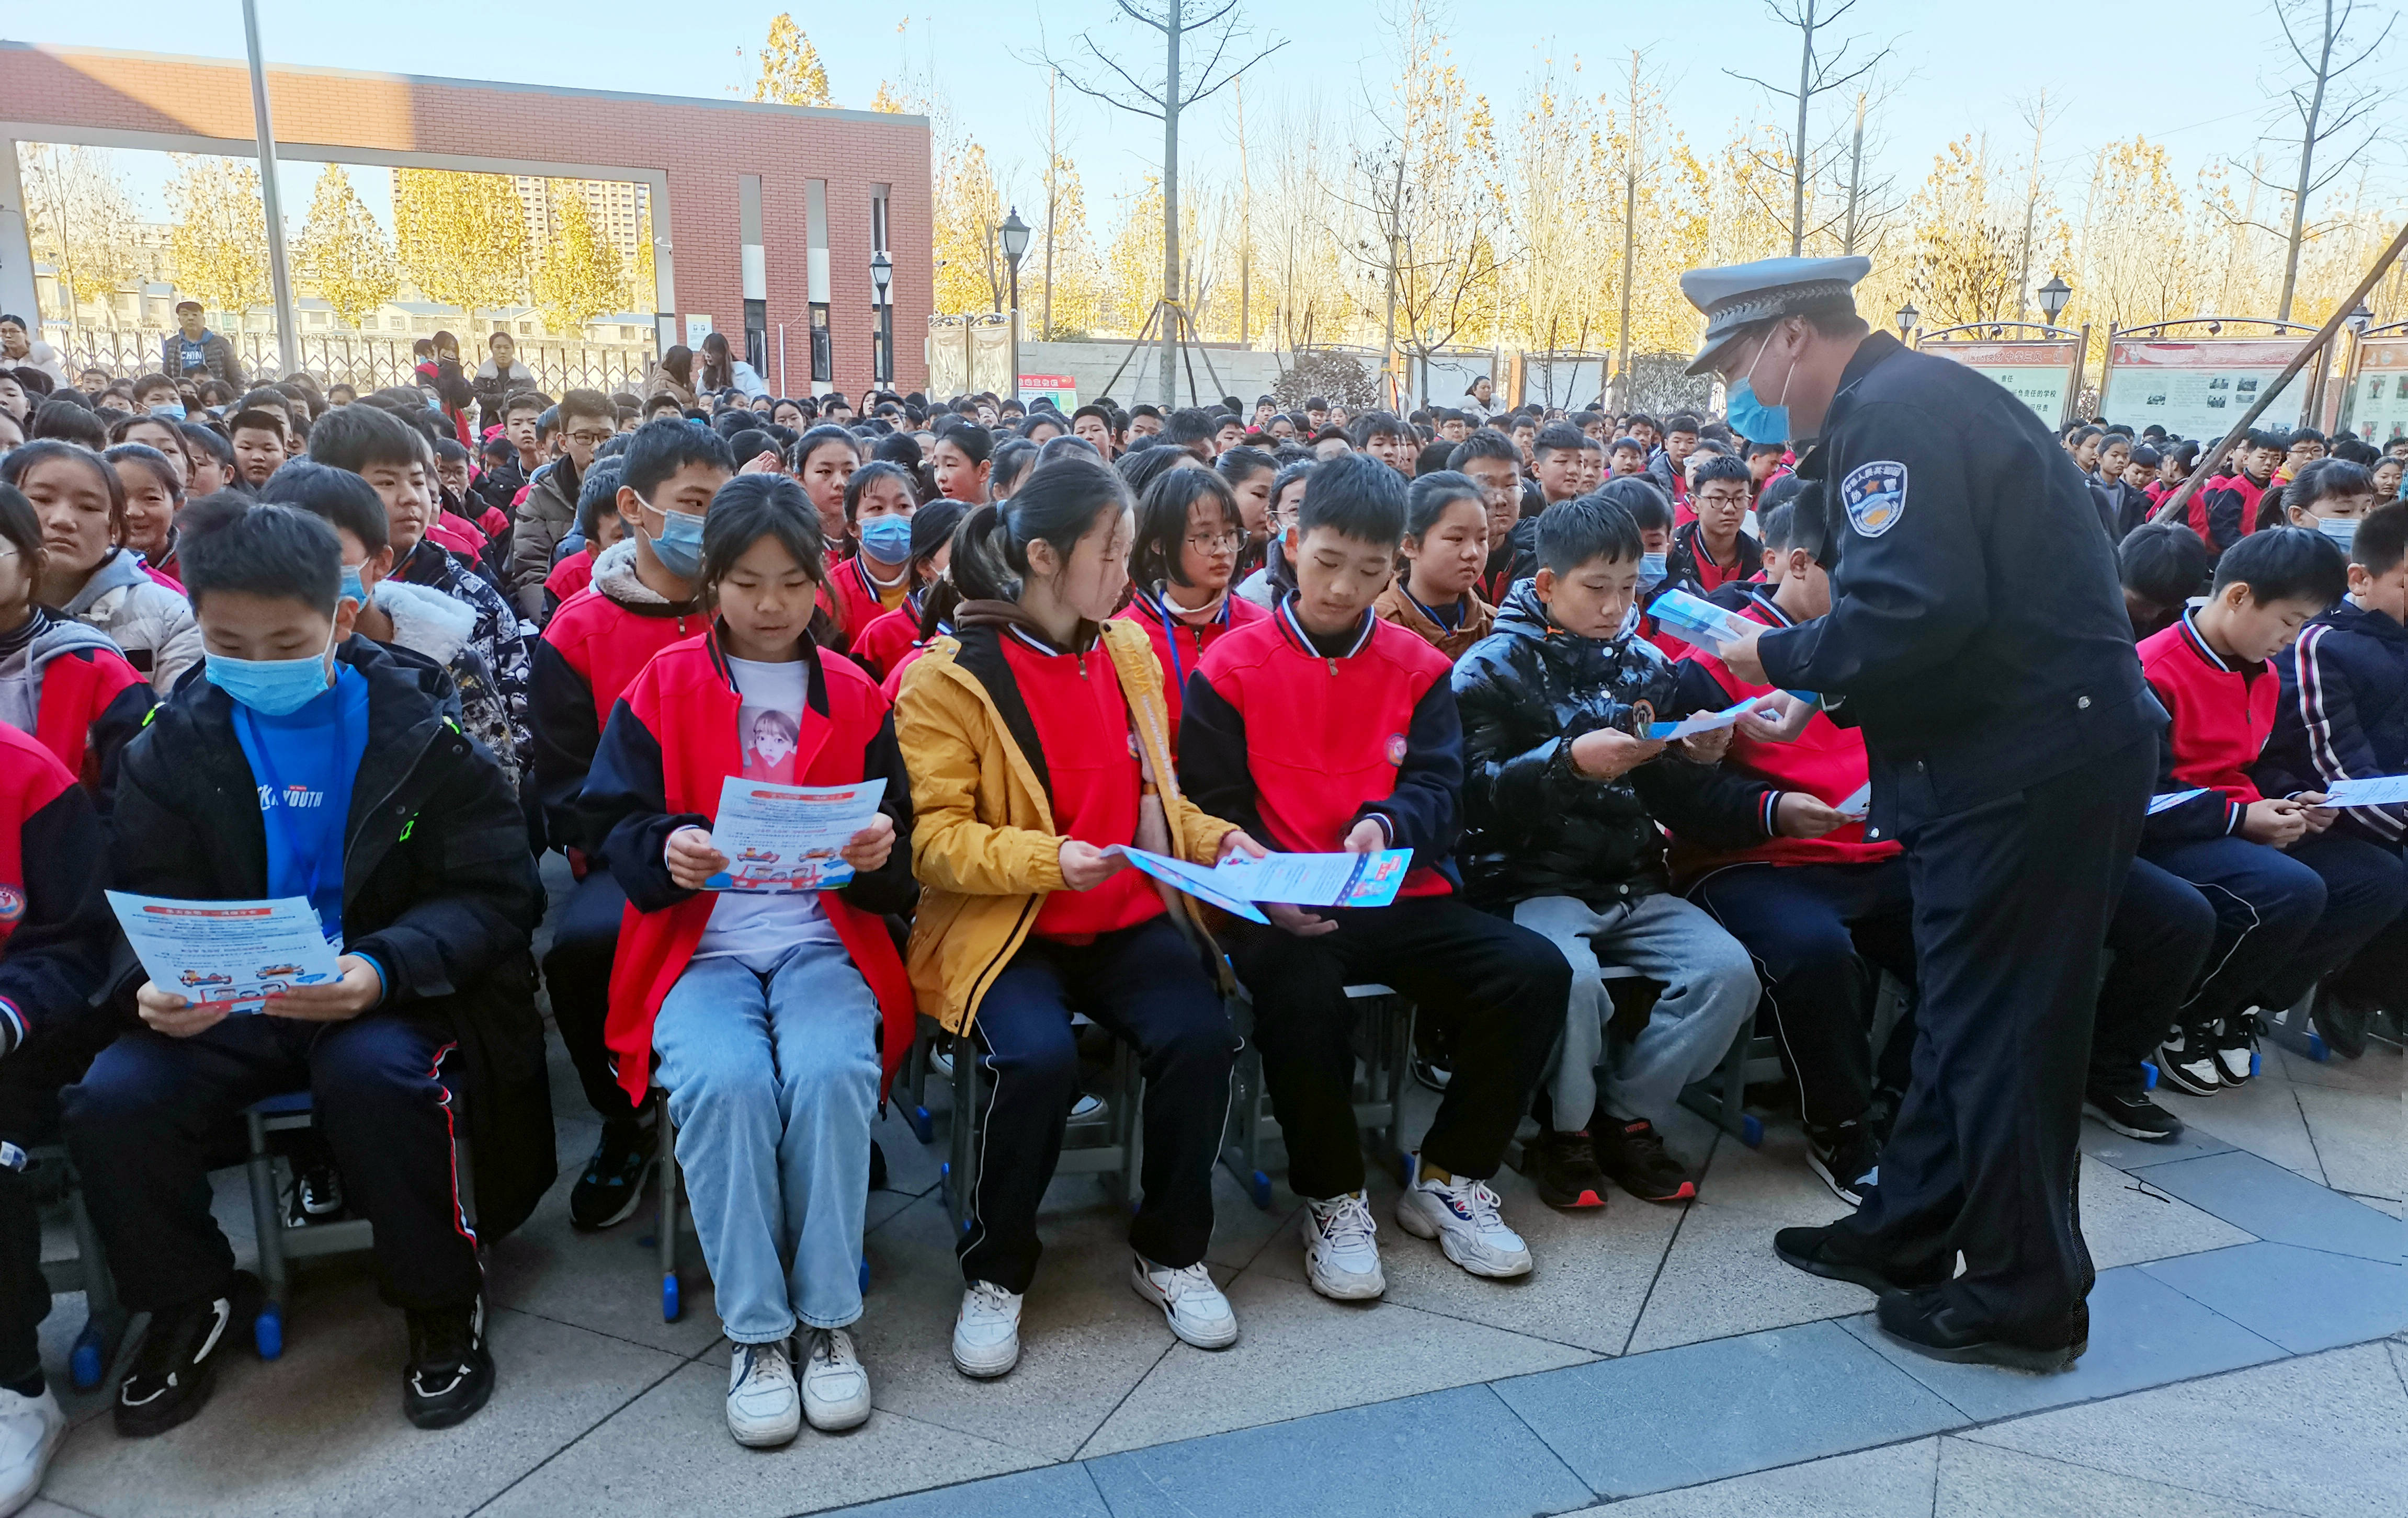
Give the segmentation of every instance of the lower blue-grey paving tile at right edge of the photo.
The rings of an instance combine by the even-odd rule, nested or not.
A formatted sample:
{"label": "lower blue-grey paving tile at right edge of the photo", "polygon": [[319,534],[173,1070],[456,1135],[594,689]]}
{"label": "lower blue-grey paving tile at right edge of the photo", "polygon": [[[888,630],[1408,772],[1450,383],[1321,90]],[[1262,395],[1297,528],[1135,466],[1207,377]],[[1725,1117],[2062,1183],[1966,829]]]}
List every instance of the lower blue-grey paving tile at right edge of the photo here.
{"label": "lower blue-grey paving tile at right edge of the photo", "polygon": [[2408,1268],[2292,1244],[2242,1244],[2143,1270],[2292,1354],[2408,1328]]}

